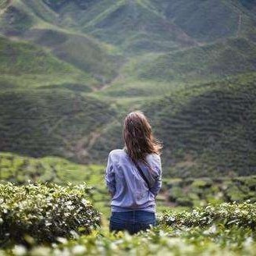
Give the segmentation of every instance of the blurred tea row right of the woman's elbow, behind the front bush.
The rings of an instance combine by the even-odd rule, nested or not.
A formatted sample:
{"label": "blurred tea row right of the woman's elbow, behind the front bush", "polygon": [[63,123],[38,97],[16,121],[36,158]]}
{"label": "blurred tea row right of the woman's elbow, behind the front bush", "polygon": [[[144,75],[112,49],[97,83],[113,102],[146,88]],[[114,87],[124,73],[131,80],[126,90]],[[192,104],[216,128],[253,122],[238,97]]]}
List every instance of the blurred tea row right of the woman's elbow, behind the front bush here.
{"label": "blurred tea row right of the woman's elbow, behind the front bush", "polygon": [[165,179],[163,190],[168,191],[171,203],[191,207],[220,202],[255,202],[255,186],[256,176],[179,181]]}

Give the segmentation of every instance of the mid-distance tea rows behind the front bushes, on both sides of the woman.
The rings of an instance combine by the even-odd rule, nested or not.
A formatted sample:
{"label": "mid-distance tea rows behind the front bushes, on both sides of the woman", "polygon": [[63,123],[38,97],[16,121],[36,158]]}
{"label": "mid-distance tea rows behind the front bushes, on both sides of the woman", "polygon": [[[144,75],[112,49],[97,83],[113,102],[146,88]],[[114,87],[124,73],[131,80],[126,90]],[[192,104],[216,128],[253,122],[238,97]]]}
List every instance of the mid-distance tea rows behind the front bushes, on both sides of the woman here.
{"label": "mid-distance tea rows behind the front bushes, on both sides of the woman", "polygon": [[[10,153],[0,154],[0,179],[16,184],[34,182],[87,183],[87,195],[94,206],[104,213],[103,221],[109,216],[109,195],[104,181],[105,165],[78,165],[62,158],[21,157]],[[176,207],[191,208],[222,202],[256,201],[256,177],[216,178],[168,178],[163,173],[162,190],[158,196],[158,211]]]}

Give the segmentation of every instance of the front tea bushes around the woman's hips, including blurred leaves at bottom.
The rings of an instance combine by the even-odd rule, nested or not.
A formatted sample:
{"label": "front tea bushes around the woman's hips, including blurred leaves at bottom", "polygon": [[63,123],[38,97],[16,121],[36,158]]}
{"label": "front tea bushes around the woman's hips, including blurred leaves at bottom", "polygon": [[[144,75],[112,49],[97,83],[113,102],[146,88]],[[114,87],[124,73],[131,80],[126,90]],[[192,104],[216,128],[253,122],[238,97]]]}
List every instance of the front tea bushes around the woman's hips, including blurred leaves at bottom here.
{"label": "front tea bushes around the woman's hips, including blurred leaves at bottom", "polygon": [[99,228],[84,189],[2,183],[1,254],[254,255],[256,204],[249,201],[164,212],[157,226],[130,236]]}

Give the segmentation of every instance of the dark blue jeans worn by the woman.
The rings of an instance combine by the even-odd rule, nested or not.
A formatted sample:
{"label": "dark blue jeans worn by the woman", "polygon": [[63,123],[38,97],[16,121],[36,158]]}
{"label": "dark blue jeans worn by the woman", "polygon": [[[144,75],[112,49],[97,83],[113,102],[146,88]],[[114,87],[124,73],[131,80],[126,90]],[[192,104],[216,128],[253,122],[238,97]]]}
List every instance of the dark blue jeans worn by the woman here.
{"label": "dark blue jeans worn by the woman", "polygon": [[112,212],[109,231],[128,231],[131,235],[140,230],[149,229],[156,225],[155,212],[133,210],[130,212]]}

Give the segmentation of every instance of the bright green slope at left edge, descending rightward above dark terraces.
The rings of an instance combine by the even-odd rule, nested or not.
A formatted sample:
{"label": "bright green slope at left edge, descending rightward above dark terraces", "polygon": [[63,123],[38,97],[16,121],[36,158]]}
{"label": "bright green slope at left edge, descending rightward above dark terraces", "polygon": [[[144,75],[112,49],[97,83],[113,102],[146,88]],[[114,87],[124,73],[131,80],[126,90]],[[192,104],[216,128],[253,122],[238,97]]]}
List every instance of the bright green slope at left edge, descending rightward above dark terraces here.
{"label": "bright green slope at left edge, descending rightward above dark terraces", "polygon": [[44,49],[6,37],[0,37],[0,69],[1,90],[82,84],[85,91],[91,91],[97,84],[90,74],[62,62]]}

